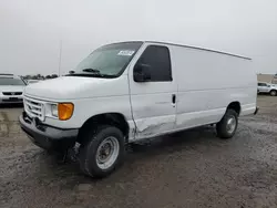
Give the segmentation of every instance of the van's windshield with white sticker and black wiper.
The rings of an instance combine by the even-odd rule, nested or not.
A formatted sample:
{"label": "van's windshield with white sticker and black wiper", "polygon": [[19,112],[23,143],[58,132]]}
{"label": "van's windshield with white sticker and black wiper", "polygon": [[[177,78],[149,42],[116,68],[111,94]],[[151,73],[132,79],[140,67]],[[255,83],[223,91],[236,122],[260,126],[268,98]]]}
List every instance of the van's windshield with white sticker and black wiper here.
{"label": "van's windshield with white sticker and black wiper", "polygon": [[85,58],[70,76],[117,77],[120,76],[142,42],[125,42],[104,45]]}

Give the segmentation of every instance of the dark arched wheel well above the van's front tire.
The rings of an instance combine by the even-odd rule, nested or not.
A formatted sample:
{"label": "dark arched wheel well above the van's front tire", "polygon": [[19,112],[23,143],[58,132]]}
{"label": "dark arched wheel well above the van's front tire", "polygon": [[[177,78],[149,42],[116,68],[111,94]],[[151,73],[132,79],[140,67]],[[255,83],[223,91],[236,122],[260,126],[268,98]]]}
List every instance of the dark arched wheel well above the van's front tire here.
{"label": "dark arched wheel well above the van's front tire", "polygon": [[99,125],[112,125],[120,128],[127,142],[129,129],[130,129],[129,124],[125,117],[120,113],[105,113],[90,117],[81,127],[78,135],[78,142],[83,143],[84,142],[83,135],[86,133],[86,131],[95,128]]}

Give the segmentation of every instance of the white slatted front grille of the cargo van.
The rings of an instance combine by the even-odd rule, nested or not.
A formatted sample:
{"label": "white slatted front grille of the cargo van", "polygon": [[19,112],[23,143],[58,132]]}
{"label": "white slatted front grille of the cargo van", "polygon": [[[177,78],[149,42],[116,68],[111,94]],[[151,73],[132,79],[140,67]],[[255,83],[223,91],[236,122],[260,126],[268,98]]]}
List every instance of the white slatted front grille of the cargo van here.
{"label": "white slatted front grille of the cargo van", "polygon": [[29,116],[38,117],[41,121],[44,119],[43,103],[41,101],[24,97],[24,110]]}

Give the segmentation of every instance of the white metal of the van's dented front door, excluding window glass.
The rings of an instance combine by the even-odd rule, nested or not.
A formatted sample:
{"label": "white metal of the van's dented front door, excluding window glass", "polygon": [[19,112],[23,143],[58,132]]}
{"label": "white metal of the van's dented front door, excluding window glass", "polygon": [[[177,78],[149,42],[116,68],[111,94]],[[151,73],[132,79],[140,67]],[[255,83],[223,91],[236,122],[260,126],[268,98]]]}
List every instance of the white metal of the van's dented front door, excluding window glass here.
{"label": "white metal of the van's dented front door, excluding window glass", "polygon": [[[173,71],[173,81],[134,82],[134,65],[148,45],[150,43],[145,43],[140,49],[129,66],[131,106],[135,123],[134,141],[173,131],[176,122],[176,106],[172,97],[177,93],[177,83]],[[168,50],[171,52],[170,46]]]}

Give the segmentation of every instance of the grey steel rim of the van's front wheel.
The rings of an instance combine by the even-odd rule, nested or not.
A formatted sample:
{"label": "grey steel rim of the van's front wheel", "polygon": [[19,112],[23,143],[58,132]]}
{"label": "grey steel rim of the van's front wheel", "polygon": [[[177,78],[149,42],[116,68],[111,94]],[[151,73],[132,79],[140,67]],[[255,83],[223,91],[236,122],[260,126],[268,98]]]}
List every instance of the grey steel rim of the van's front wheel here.
{"label": "grey steel rim of the van's front wheel", "polygon": [[96,150],[96,164],[101,169],[110,168],[115,160],[117,159],[120,154],[120,143],[113,137],[106,137],[99,145]]}

